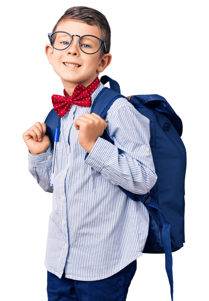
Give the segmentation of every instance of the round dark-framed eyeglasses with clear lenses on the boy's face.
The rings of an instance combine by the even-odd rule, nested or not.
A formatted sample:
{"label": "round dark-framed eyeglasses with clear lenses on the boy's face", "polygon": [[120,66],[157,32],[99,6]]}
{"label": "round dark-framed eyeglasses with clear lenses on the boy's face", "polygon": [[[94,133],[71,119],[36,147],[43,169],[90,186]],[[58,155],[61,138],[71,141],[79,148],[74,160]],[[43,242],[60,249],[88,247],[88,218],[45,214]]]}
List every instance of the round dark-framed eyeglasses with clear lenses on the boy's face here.
{"label": "round dark-framed eyeglasses with clear lenses on the boy's face", "polygon": [[[87,54],[94,54],[101,48],[101,45],[105,42],[100,40],[99,38],[95,36],[85,35],[85,36],[77,36],[78,39],[78,45],[84,53]],[[51,46],[57,50],[64,50],[67,49],[72,40],[73,36],[71,36],[69,33],[66,33],[64,31],[55,31],[54,33],[48,33],[48,38]],[[105,53],[106,53],[106,47],[105,47]]]}

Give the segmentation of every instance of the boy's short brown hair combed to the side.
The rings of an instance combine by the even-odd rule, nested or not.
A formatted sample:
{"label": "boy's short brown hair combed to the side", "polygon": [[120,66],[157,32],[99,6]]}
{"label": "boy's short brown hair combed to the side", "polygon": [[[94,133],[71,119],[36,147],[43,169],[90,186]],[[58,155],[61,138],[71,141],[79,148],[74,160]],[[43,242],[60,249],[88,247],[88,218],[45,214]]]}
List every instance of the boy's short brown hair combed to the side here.
{"label": "boy's short brown hair combed to the side", "polygon": [[[111,29],[104,14],[88,6],[75,6],[68,8],[55,24],[52,32],[56,31],[58,24],[63,20],[77,20],[89,25],[95,25],[101,32],[101,39],[105,42],[106,53],[110,53]],[[100,58],[105,54],[105,48],[101,45]]]}

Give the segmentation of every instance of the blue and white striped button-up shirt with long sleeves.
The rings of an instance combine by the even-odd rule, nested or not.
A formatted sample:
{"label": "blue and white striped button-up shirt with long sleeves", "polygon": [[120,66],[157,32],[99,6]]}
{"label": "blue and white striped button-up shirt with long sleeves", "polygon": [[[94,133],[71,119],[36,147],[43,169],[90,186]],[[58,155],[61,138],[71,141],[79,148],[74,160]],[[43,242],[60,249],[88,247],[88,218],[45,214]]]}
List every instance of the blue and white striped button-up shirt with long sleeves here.
{"label": "blue and white striped button-up shirt with long sleeves", "polygon": [[[100,83],[92,93],[92,103],[103,87]],[[126,99],[117,99],[105,116],[115,145],[98,137],[85,159],[74,122],[90,111],[73,104],[61,118],[53,188],[51,145],[44,154],[28,151],[30,173],[44,191],[53,192],[45,267],[59,278],[65,268],[66,278],[83,281],[108,278],[142,256],[148,211],[118,185],[145,194],[157,181],[149,119]]]}

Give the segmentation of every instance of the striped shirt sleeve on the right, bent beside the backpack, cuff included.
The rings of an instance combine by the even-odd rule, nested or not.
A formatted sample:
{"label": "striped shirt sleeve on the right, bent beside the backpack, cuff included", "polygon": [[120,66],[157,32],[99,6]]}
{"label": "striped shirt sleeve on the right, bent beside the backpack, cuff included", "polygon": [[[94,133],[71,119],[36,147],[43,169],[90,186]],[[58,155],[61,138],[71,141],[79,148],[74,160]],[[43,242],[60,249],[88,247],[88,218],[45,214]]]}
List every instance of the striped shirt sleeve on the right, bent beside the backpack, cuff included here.
{"label": "striped shirt sleeve on the right, bent beside the backpack, cuff included", "polygon": [[119,99],[111,106],[105,121],[115,145],[98,137],[85,163],[114,185],[135,194],[147,193],[157,181],[149,145],[149,119],[128,101],[121,107]]}

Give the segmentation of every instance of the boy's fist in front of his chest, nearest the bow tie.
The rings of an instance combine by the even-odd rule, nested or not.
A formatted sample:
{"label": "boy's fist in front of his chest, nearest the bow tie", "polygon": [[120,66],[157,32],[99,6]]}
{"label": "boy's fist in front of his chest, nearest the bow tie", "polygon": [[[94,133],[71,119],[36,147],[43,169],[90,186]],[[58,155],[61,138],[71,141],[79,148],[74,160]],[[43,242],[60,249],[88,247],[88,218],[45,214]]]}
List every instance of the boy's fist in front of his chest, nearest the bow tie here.
{"label": "boy's fist in front of his chest, nearest the bow tie", "polygon": [[76,130],[79,130],[78,141],[80,145],[90,153],[98,137],[100,137],[107,127],[107,123],[95,113],[85,113],[74,123]]}

